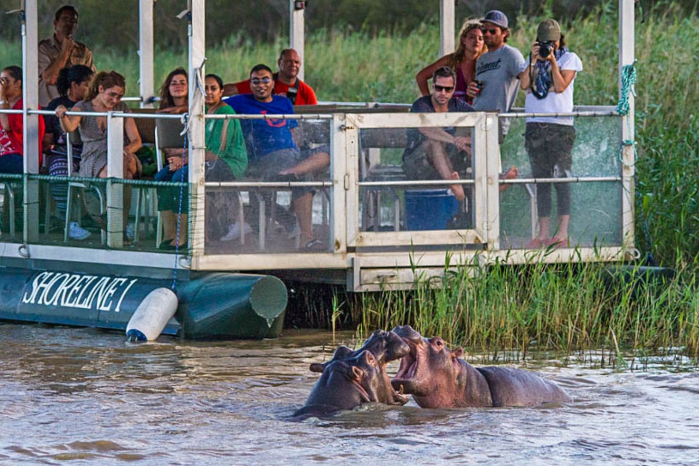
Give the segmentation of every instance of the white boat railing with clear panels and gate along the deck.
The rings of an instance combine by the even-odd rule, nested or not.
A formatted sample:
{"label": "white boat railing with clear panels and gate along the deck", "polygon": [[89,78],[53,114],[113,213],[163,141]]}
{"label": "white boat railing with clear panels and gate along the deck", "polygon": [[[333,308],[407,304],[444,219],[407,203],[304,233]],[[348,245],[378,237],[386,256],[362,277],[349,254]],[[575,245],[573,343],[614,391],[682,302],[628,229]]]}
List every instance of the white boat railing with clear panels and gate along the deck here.
{"label": "white boat railing with clear panels and gate along the deck", "polygon": [[[68,112],[68,115],[98,115],[108,120],[108,177],[101,180],[82,180],[99,185],[106,191],[107,241],[106,245],[92,244],[89,247],[80,242],[63,242],[62,238],[51,238],[46,233],[48,215],[44,217],[44,235],[40,235],[41,219],[38,205],[44,203],[50,207],[52,201],[45,196],[39,201],[38,192],[48,191],[50,184],[76,181],[75,177],[48,177],[47,175],[24,175],[7,177],[0,175],[0,182],[6,180],[3,193],[11,185],[15,191],[23,183],[31,197],[31,190],[36,189],[34,202],[24,202],[24,232],[20,237],[6,234],[2,242],[21,242],[32,245],[32,254],[47,259],[61,256],[66,247],[103,249],[100,257],[106,254],[117,263],[131,265],[147,263],[155,267],[172,267],[171,252],[157,249],[155,241],[150,239],[152,224],[157,216],[154,207],[155,191],[167,187],[182,187],[189,192],[188,205],[182,205],[182,213],[189,214],[187,223],[182,224],[189,232],[190,243],[180,250],[187,258],[197,256],[194,263],[190,259],[179,261],[178,267],[192,266],[199,270],[230,269],[260,270],[270,268],[347,268],[352,263],[349,258],[361,257],[368,263],[383,264],[396,257],[407,257],[409,249],[422,250],[429,263],[435,262],[435,256],[441,256],[445,250],[464,247],[470,250],[487,250],[493,254],[505,249],[517,249],[526,252],[524,243],[535,234],[536,191],[538,184],[572,184],[577,191],[589,201],[585,205],[604,219],[603,226],[583,226],[579,233],[581,247],[610,247],[608,256],[617,254],[624,247],[624,238],[628,225],[622,221],[624,202],[628,196],[630,180],[621,173],[619,159],[619,115],[613,107],[576,108],[574,112],[556,116],[575,117],[575,126],[582,146],[574,153],[577,159],[584,159],[584,168],[580,173],[568,177],[535,178],[528,175],[526,150],[524,150],[524,118],[539,116],[524,112],[496,113],[474,112],[466,114],[411,114],[398,113],[304,113],[299,115],[203,115],[203,119],[296,119],[306,129],[312,128],[310,147],[326,145],[330,154],[330,166],[324,173],[312,181],[261,181],[241,179],[226,182],[202,180],[203,194],[196,194],[192,180],[185,183],[159,183],[150,180],[123,180],[123,166],[120,157],[123,151],[123,122],[125,117],[135,119],[182,119],[182,115],[134,112]],[[27,112],[28,115],[51,115],[48,110],[2,110],[6,113]],[[552,116],[552,115],[545,115]],[[511,122],[510,133],[503,145],[498,145],[498,119],[507,117]],[[611,120],[610,120],[611,119]],[[592,123],[596,121],[597,123]],[[612,123],[610,122],[617,122]],[[421,127],[456,126],[468,131],[473,138],[473,155],[467,177],[460,180],[409,180],[401,168],[401,154],[405,147],[405,132]],[[613,131],[609,131],[613,128]],[[604,133],[601,131],[605,129]],[[598,138],[595,146],[594,139]],[[602,149],[600,149],[602,147]],[[498,179],[498,175],[510,163],[517,165],[520,175],[514,179]],[[590,166],[603,166],[603,170],[590,170]],[[574,170],[575,172],[575,170]],[[22,178],[20,180],[20,178]],[[34,183],[34,184],[32,184]],[[37,183],[43,183],[39,189]],[[450,186],[461,184],[469,193],[466,212],[461,212],[461,224],[450,226],[430,226],[429,219],[421,222],[419,209],[426,190],[446,192]],[[610,184],[610,188],[600,188]],[[500,185],[512,189],[499,194]],[[582,188],[589,185],[590,188]],[[124,209],[124,187],[138,191],[138,206],[131,207],[136,214],[136,226],[141,231],[141,240],[134,245],[124,246],[123,232],[125,225],[121,212]],[[524,189],[517,189],[517,186]],[[593,187],[595,187],[593,189]],[[293,210],[291,200],[298,189],[315,191],[312,204],[312,226],[320,245],[312,250],[298,249],[296,241],[289,238],[295,226],[287,230],[282,228],[280,216],[276,212],[288,213]],[[596,198],[588,192],[602,190],[605,198]],[[221,242],[220,238],[207,238],[206,227],[210,217],[217,212],[210,211],[208,200],[216,193],[236,193],[240,212],[245,215],[237,217],[243,225],[254,228],[245,238],[245,233],[234,241]],[[442,193],[442,194],[444,194]],[[614,202],[610,203],[610,193]],[[626,194],[625,194],[626,193]],[[440,194],[441,196],[441,194]],[[416,201],[417,200],[417,201]],[[134,201],[132,200],[132,203]],[[417,202],[415,207],[414,203]],[[197,214],[198,203],[206,204]],[[282,208],[278,209],[278,205]],[[429,205],[429,204],[426,204]],[[439,208],[443,207],[438,205]],[[286,210],[287,212],[284,212]],[[523,212],[528,212],[522,215]],[[454,212],[456,214],[456,212]],[[454,215],[455,217],[459,217]],[[526,217],[522,221],[521,217]],[[577,214],[580,217],[580,214]],[[451,220],[451,219],[450,219]],[[416,223],[417,222],[417,223]],[[425,223],[427,222],[427,223]],[[233,219],[231,219],[231,224]],[[263,227],[264,224],[264,227]],[[156,227],[159,228],[159,225]],[[199,244],[192,242],[192,232],[201,228],[203,238]],[[248,228],[247,226],[245,228]],[[243,228],[243,231],[245,231]],[[291,231],[289,231],[291,228]],[[145,231],[144,231],[145,230]],[[264,230],[264,231],[263,231]],[[261,232],[262,231],[262,232]],[[45,247],[45,248],[44,248]],[[107,249],[104,249],[104,248]],[[199,254],[194,254],[194,251]],[[597,251],[595,254],[598,254]],[[17,252],[17,254],[19,254]],[[366,259],[367,254],[377,254]],[[593,253],[591,253],[590,257]],[[76,256],[80,257],[79,254]],[[382,259],[377,259],[381,257]],[[81,260],[89,258],[86,253]],[[264,258],[264,259],[263,259]],[[89,260],[89,259],[87,259]],[[105,260],[101,257],[100,260]],[[354,259],[352,259],[354,260]],[[401,259],[402,261],[403,259]],[[384,261],[384,262],[382,262]],[[400,262],[400,261],[399,261]],[[384,264],[385,265],[385,264]],[[433,264],[434,265],[434,264]]]}

